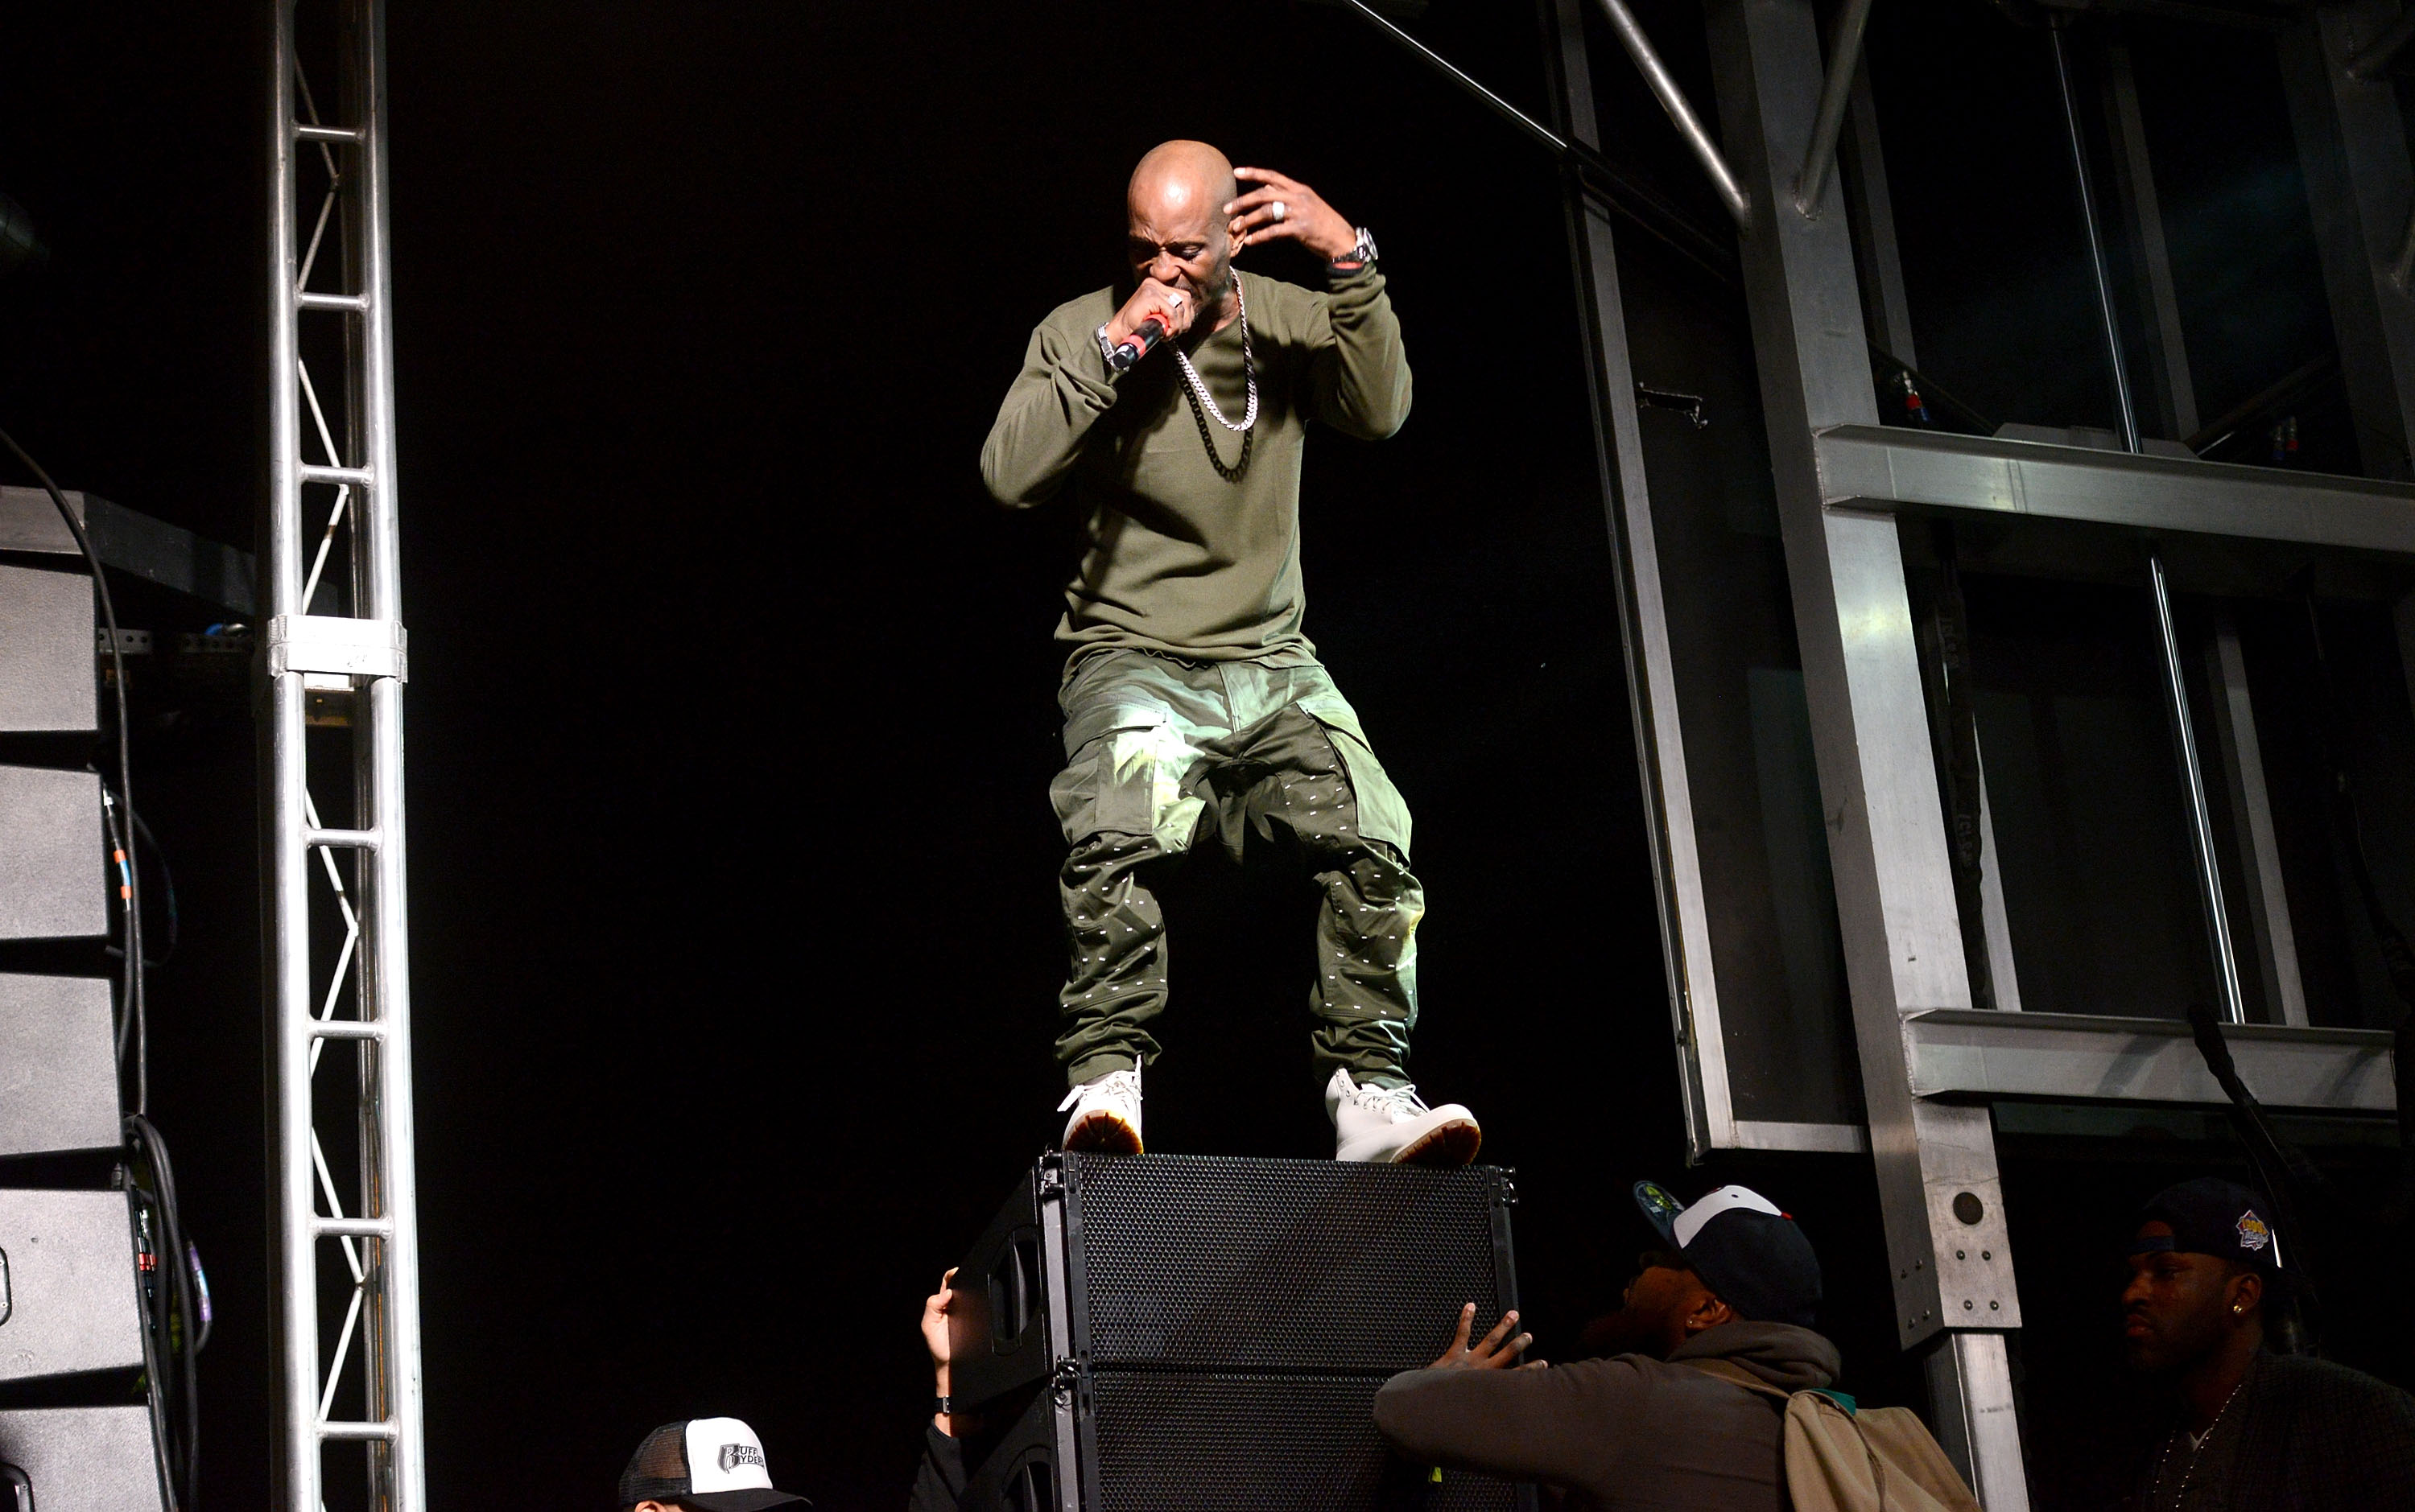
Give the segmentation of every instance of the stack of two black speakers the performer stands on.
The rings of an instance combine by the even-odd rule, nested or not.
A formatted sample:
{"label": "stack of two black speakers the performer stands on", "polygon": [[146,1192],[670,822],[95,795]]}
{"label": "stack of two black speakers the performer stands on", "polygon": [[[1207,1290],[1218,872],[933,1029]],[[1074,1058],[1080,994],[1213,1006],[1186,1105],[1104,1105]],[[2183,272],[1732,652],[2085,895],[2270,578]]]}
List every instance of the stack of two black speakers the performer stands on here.
{"label": "stack of two black speakers the performer stands on", "polygon": [[956,1270],[966,1510],[1531,1507],[1391,1464],[1372,1401],[1517,1307],[1507,1171],[1048,1155]]}

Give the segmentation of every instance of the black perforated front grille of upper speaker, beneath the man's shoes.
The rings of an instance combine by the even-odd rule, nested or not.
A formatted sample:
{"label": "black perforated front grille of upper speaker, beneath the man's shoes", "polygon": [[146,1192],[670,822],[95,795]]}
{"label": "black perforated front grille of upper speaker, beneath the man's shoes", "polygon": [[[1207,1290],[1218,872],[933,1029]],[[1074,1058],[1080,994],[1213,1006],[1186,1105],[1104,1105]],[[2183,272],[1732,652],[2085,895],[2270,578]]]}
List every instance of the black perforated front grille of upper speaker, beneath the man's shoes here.
{"label": "black perforated front grille of upper speaker, beneath the man's shoes", "polygon": [[1094,1369],[1391,1374],[1514,1307],[1500,1171],[1070,1155]]}

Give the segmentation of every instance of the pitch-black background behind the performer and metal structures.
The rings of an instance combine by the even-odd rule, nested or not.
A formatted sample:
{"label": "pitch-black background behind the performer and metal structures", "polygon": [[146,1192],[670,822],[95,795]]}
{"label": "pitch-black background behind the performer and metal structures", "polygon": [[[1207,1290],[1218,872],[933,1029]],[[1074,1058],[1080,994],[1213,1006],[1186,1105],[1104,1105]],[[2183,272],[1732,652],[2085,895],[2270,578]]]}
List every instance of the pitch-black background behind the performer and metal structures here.
{"label": "pitch-black background behind the performer and metal structures", "polygon": [[[1642,14],[1707,106],[1698,12]],[[1543,114],[1524,7],[1451,0],[1413,24]],[[249,543],[266,36],[121,2],[10,31],[0,191],[53,261],[0,283],[0,423],[68,488]],[[2038,109],[2041,34],[1980,5],[1889,2],[1889,111],[1954,104],[1944,87],[1886,94],[1927,46],[1963,48],[1968,77]],[[1162,77],[1113,87],[1135,56]],[[1604,41],[1596,58],[1613,147],[1703,203],[1635,75]],[[1314,184],[1384,244],[1418,406],[1391,442],[1309,452],[1309,628],[1418,809],[1432,920],[1413,1070],[1476,1106],[1488,1157],[1519,1169],[1543,1353],[1616,1302],[1642,1241],[1635,1176],[1688,1196],[1744,1179],[1821,1246],[1847,1389],[1915,1398],[1862,1162],[1683,1171],[1546,159],[1360,19],[1282,0],[401,5],[391,89],[442,1502],[601,1507],[647,1427],[705,1413],[751,1420],[782,1485],[824,1507],[903,1498],[927,1394],[918,1302],[1055,1135],[1060,1094],[1048,630],[1072,536],[1058,514],[990,507],[976,454],[1029,326],[1113,275],[1123,176],[1169,135]],[[1898,140],[1908,258],[1980,246],[1951,193],[1971,138]],[[1990,171],[2021,215],[1983,244],[2000,268],[1915,278],[1925,360],[1995,418],[2111,423],[2072,307],[2067,164],[2004,140]],[[2234,213],[2215,179],[2166,193]],[[2299,225],[2282,198],[2273,215]],[[2219,215],[2188,225],[2215,237]],[[2268,237],[2273,256],[2289,234]],[[1251,266],[1314,278],[1280,251]],[[1741,331],[1732,292],[1659,275],[1710,328]],[[2321,319],[2268,324],[2241,370],[2282,372],[2304,360],[2292,343],[2321,338]],[[2212,413],[2227,396],[2207,389]],[[1758,447],[1758,425],[1746,401],[1700,444]],[[205,1488],[263,1505],[249,727],[239,708],[193,713],[147,727],[138,761],[179,867],[155,1116],[220,1309]],[[1203,872],[1171,913],[1152,1147],[1323,1155],[1307,899]],[[2007,1138],[2050,1505],[2118,1478],[2135,1418],[2111,1374],[2108,1246],[2145,1193],[2227,1159],[2219,1140],[2111,1159]],[[2403,1319],[2386,1321],[2401,1331],[2343,1350],[2403,1372]]]}

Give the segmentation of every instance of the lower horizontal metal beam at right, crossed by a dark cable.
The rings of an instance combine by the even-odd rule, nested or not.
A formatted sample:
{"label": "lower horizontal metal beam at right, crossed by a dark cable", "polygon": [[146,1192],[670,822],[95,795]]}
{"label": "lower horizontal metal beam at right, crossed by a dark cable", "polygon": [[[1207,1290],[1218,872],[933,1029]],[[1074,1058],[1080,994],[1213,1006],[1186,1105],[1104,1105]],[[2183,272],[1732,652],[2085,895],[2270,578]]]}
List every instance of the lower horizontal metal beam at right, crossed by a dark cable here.
{"label": "lower horizontal metal beam at right, crossed by a dark cable", "polygon": [[[2265,1106],[2398,1106],[2388,1031],[2224,1024],[2222,1039]],[[1903,1046],[1920,1097],[2229,1106],[2186,1019],[1922,1012],[1903,1019]]]}

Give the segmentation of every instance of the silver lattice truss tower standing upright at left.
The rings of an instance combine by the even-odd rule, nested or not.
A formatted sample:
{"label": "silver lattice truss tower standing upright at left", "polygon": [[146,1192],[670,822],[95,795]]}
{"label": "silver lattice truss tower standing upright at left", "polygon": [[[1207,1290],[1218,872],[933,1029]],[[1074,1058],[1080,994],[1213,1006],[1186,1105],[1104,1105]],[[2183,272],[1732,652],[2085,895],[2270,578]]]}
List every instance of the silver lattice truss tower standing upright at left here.
{"label": "silver lattice truss tower standing upright at left", "polygon": [[[386,7],[333,0],[297,17],[295,0],[273,0],[273,10],[263,872],[283,1411],[275,1500],[287,1512],[319,1512],[328,1447],[362,1444],[367,1505],[418,1512],[427,1478],[411,1159],[408,667],[394,490]],[[321,31],[333,39],[326,56],[336,77],[321,80],[336,85],[333,94],[312,92],[297,22],[312,43]],[[314,744],[326,756],[316,783]],[[314,1077],[321,1060],[326,1087]],[[336,1097],[343,1080],[350,1099]],[[350,1179],[338,1181],[338,1169]],[[321,1261],[336,1263],[321,1273]]]}

